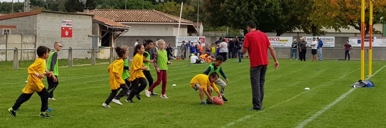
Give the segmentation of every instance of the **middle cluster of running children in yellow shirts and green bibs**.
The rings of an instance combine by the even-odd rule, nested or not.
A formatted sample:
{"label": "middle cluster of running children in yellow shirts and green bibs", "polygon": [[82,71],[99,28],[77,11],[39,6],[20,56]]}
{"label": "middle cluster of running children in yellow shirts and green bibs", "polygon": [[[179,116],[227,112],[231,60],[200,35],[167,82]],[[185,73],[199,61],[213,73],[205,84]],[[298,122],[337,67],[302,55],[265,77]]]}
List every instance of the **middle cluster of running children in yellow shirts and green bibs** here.
{"label": "middle cluster of running children in yellow shirts and green bibs", "polygon": [[[149,89],[145,91],[147,97],[152,95],[157,96],[158,94],[154,93],[153,89],[162,82],[162,92],[160,97],[165,99],[168,98],[166,95],[167,70],[168,65],[171,65],[172,63],[168,60],[169,52],[165,50],[166,43],[164,40],[158,40],[158,50],[154,53],[154,60],[151,60],[150,58],[150,50],[154,47],[153,41],[147,40],[144,45],[138,44],[135,46],[133,54],[134,58],[130,68],[127,61],[129,47],[124,45],[115,48],[119,58],[108,66],[111,93],[107,100],[102,104],[103,107],[111,108],[110,102],[123,105],[120,102],[120,98],[125,95],[127,95],[125,101],[129,103],[134,102],[134,96],[136,96],[138,100],[141,100],[140,93],[145,90],[147,81],[149,81]],[[153,78],[150,73],[150,63],[153,63],[157,71],[157,81],[155,83],[153,83]],[[122,89],[122,91],[117,95],[120,89]]]}

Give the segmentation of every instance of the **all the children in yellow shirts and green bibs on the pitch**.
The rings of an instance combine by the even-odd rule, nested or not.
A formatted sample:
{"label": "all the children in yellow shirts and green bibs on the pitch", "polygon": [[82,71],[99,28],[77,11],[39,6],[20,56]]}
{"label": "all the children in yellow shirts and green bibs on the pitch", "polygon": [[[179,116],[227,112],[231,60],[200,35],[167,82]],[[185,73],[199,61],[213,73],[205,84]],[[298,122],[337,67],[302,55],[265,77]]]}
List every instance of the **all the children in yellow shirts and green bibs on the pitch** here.
{"label": "all the children in yellow shirts and green bibs on the pitch", "polygon": [[[158,50],[154,54],[154,60],[151,60],[151,53],[149,53],[154,47],[153,41],[147,40],[144,45],[138,44],[135,46],[133,54],[134,58],[131,66],[129,66],[127,60],[129,47],[123,45],[122,47],[115,48],[118,58],[107,68],[111,93],[103,102],[103,107],[111,108],[111,102],[123,105],[120,102],[120,98],[124,96],[127,96],[125,101],[129,103],[134,102],[132,100],[134,96],[136,96],[138,100],[141,100],[140,93],[146,88],[147,81],[149,81],[149,89],[145,90],[147,97],[157,96],[158,94],[154,93],[153,90],[162,82],[162,92],[160,97],[165,99],[168,98],[166,95],[167,70],[168,65],[172,65],[172,63],[168,61],[168,52],[165,50],[166,43],[164,40],[158,41]],[[41,97],[42,101],[41,113],[39,113],[39,116],[43,118],[52,117],[47,114],[46,111],[53,111],[48,108],[48,100],[55,100],[53,98],[53,90],[58,86],[57,76],[59,75],[57,52],[61,50],[62,46],[60,42],[55,42],[54,47],[55,51],[51,53],[51,50],[48,47],[39,46],[37,48],[36,52],[39,58],[36,58],[35,62],[27,68],[27,73],[29,74],[27,85],[22,90],[22,94],[16,100],[14,106],[8,109],[8,112],[12,116],[16,117],[16,111],[20,110],[19,108],[22,103],[29,100],[33,93],[36,92]],[[209,56],[209,54],[206,55]],[[48,63],[46,63],[46,59],[48,59]],[[229,81],[221,67],[223,57],[217,56],[213,61],[214,62],[208,66],[203,74],[194,76],[190,81],[190,86],[195,91],[199,90],[201,105],[213,104],[213,90],[223,99],[223,101],[228,101],[223,96],[226,83]],[[155,83],[153,83],[150,73],[149,66],[151,66],[151,63],[153,63],[157,71],[157,81]],[[226,83],[219,78],[218,73],[223,76]],[[47,90],[42,83],[44,76],[47,76],[49,90]],[[216,84],[221,86],[221,90],[218,90]],[[118,93],[119,90],[121,91]],[[203,100],[204,92],[208,97],[206,101]]]}

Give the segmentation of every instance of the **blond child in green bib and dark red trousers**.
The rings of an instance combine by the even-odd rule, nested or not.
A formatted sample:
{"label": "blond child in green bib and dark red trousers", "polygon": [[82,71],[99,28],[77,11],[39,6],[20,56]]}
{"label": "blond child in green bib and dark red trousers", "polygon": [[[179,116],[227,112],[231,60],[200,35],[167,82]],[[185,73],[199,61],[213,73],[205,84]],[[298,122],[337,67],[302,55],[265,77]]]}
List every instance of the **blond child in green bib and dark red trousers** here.
{"label": "blond child in green bib and dark red trousers", "polygon": [[151,87],[145,92],[146,92],[146,96],[150,97],[153,89],[156,86],[158,86],[162,81],[162,91],[161,91],[162,95],[160,97],[167,99],[168,96],[166,95],[166,83],[168,80],[168,76],[166,71],[168,70],[168,65],[172,65],[172,63],[168,61],[166,50],[164,50],[165,48],[164,40],[158,41],[158,48],[159,50],[157,50],[156,54],[154,54],[154,67],[156,67],[157,69],[157,81],[156,83],[153,83],[153,85],[151,85]]}

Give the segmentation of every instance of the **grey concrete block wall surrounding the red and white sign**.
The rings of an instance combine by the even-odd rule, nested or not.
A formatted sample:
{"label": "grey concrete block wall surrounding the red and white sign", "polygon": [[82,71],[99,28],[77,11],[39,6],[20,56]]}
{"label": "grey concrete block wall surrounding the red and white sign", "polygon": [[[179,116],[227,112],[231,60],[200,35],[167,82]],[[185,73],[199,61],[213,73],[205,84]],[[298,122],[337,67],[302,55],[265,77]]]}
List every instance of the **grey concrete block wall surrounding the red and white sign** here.
{"label": "grey concrete block wall surrounding the red and white sign", "polygon": [[[73,37],[61,37],[62,19],[73,20]],[[41,13],[38,21],[38,46],[54,47],[54,42],[62,43],[63,48],[91,48],[92,17],[87,15],[69,15],[58,13]],[[73,58],[90,58],[90,50],[73,50]],[[59,54],[59,59],[68,58],[68,50]]]}

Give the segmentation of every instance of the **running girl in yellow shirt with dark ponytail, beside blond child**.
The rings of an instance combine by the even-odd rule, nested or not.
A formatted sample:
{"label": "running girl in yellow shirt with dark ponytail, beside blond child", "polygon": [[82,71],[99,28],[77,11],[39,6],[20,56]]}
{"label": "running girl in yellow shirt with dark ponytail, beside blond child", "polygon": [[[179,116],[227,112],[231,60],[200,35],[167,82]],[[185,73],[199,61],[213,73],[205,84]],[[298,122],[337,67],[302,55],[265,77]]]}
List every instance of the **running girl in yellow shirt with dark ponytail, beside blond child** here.
{"label": "running girl in yellow shirt with dark ponytail, beside blond child", "polygon": [[[134,58],[130,66],[130,78],[131,88],[129,96],[126,99],[126,102],[133,103],[134,95],[137,96],[138,100],[141,100],[139,93],[146,88],[147,82],[143,70],[148,70],[149,67],[144,65],[144,56],[142,55],[145,52],[145,47],[142,44],[135,46],[134,48]],[[141,86],[139,86],[141,84]]]}

